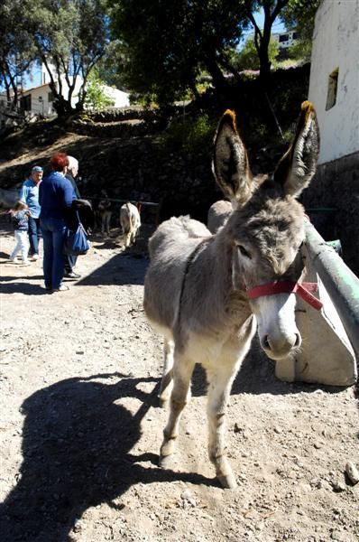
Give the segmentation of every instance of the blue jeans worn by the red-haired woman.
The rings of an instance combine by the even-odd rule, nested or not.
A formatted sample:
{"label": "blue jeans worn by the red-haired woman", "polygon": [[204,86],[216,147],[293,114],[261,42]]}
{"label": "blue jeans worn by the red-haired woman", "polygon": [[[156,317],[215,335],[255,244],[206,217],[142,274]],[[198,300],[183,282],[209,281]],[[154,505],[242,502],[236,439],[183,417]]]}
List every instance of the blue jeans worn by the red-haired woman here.
{"label": "blue jeans worn by the red-haired woman", "polygon": [[63,245],[66,234],[66,224],[63,219],[41,219],[43,239],[43,276],[45,287],[60,288],[65,260]]}

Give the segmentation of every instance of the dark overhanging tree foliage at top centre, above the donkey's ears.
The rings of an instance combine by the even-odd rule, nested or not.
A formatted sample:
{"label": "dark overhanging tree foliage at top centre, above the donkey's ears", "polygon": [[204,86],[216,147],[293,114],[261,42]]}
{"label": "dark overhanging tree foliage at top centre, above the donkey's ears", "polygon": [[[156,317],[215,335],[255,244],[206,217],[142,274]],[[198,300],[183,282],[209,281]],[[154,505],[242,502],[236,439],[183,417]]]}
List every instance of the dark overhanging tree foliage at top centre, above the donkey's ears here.
{"label": "dark overhanging tree foliage at top centre, above the donkey's ears", "polygon": [[[270,39],[273,23],[285,14],[290,23],[299,18],[312,25],[318,0],[109,0],[109,5],[112,31],[121,43],[124,85],[163,105],[189,90],[198,96],[203,71],[224,95],[228,74],[239,80],[238,70],[260,68],[262,89],[268,90],[278,52]],[[262,29],[253,16],[261,8]],[[248,43],[238,58],[232,51],[248,28],[255,31],[257,47]]]}

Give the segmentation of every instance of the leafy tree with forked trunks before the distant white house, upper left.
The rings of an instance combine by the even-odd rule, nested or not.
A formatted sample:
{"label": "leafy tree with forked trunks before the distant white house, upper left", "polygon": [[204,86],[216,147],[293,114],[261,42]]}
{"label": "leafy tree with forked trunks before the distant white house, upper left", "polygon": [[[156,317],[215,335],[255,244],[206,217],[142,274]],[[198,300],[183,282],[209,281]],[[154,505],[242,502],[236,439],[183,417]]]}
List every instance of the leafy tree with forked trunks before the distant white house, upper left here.
{"label": "leafy tree with forked trunks before the distant white house, upper left", "polygon": [[[54,107],[58,114],[71,112],[71,97],[78,76],[78,110],[83,107],[87,77],[106,50],[108,30],[106,0],[26,0],[27,24],[32,32],[39,59],[45,63],[51,78]],[[53,84],[63,76],[69,87],[57,91]],[[67,93],[66,93],[67,94]]]}

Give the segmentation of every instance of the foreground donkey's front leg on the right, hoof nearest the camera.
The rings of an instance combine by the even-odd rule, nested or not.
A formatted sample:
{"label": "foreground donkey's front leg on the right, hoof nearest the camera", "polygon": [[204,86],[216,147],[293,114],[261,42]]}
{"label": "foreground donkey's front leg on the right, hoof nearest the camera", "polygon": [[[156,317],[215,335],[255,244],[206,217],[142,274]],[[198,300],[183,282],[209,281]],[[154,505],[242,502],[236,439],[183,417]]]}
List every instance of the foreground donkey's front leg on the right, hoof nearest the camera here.
{"label": "foreground donkey's front leg on the right, hoof nearest the camera", "polygon": [[207,416],[209,424],[208,453],[209,459],[216,467],[216,477],[224,488],[234,489],[235,476],[225,455],[225,415],[229,402],[229,394],[235,378],[235,367],[222,366],[216,371],[207,371],[208,403]]}

